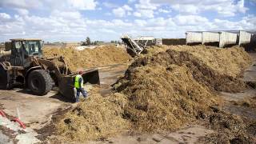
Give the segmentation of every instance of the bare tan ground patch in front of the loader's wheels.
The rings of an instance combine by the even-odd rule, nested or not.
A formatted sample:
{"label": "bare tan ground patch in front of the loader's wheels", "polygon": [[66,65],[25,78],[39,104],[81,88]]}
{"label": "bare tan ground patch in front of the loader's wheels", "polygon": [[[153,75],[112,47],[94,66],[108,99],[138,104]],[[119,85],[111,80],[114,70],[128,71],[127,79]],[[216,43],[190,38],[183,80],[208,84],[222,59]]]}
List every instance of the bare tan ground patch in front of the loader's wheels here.
{"label": "bare tan ground patch in front of the loader's wheels", "polygon": [[39,129],[51,120],[51,115],[58,108],[70,106],[56,97],[56,91],[50,91],[45,96],[26,94],[22,89],[0,90],[0,104],[4,112],[29,123],[31,128]]}

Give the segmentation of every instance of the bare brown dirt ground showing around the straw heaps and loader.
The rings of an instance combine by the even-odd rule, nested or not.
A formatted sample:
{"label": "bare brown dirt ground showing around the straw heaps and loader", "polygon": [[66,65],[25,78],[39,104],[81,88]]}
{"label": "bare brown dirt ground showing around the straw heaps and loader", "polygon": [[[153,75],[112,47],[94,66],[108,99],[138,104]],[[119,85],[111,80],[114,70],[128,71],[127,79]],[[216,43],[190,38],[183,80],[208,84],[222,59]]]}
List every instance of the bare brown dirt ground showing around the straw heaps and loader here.
{"label": "bare brown dirt ground showing around the straw heaps and loader", "polygon": [[[250,54],[250,56],[254,62],[245,71],[243,80],[246,82],[255,82],[256,54]],[[103,96],[111,93],[111,85],[123,76],[127,68],[128,64],[98,67],[102,83],[100,93]],[[221,95],[224,99],[221,109],[224,112],[240,115],[246,120],[256,120],[256,109],[254,107],[250,105],[239,105],[239,102],[244,103],[246,98],[255,98],[255,89],[248,88],[243,90],[242,93],[222,93]],[[50,121],[54,114],[58,114],[59,111],[74,106],[57,94],[56,90],[52,90],[45,96],[34,96],[30,94],[30,91],[19,88],[15,88],[14,90],[0,90],[0,105],[2,110],[8,115],[17,117],[19,113],[22,122],[25,122],[26,126],[29,126],[31,129],[38,131],[38,135],[42,134],[40,133],[40,129],[50,126]],[[215,140],[214,134],[218,134],[218,131],[205,126],[201,122],[192,122],[180,130],[170,131],[166,134],[127,134],[85,143],[213,143]],[[44,138],[39,139],[43,140]],[[12,138],[8,132],[6,133],[5,129],[0,129],[0,139],[4,143],[16,142],[15,138]],[[232,143],[234,141],[230,142]]]}

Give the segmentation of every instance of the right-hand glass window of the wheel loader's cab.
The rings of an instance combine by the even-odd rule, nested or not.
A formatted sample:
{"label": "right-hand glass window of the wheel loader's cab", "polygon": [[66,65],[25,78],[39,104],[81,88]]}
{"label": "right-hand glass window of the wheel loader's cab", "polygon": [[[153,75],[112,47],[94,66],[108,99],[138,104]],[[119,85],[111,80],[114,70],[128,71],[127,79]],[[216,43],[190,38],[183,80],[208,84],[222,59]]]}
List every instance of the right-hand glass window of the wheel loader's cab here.
{"label": "right-hand glass window of the wheel loader's cab", "polygon": [[42,41],[25,41],[23,44],[28,55],[42,54]]}

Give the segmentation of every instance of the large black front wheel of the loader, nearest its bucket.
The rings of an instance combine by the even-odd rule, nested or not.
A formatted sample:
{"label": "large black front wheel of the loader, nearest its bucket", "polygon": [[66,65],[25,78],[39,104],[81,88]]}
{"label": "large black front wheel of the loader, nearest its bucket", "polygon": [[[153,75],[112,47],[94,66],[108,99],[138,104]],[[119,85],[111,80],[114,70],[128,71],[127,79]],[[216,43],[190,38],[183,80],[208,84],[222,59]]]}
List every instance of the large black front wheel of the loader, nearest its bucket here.
{"label": "large black front wheel of the loader, nearest its bucket", "polygon": [[32,71],[27,82],[30,90],[37,95],[45,95],[53,87],[53,80],[46,70]]}

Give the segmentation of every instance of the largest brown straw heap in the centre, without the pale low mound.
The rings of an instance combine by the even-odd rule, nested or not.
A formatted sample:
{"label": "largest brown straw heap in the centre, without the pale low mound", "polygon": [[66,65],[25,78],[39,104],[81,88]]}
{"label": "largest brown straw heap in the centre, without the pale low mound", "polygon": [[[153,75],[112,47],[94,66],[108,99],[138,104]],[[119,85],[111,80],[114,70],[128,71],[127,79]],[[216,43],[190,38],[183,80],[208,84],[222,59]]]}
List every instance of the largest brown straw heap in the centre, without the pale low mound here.
{"label": "largest brown straw heap in the centre, without the pale low mound", "polygon": [[[206,53],[207,50],[210,49],[205,49]],[[216,57],[219,55],[225,57],[224,54]],[[232,58],[230,61],[234,61]],[[173,130],[200,117],[209,106],[218,103],[217,91],[238,92],[245,85],[237,78],[214,70],[204,58],[189,50],[168,49],[137,58],[115,87],[128,98],[124,111],[134,128],[159,132]]]}

